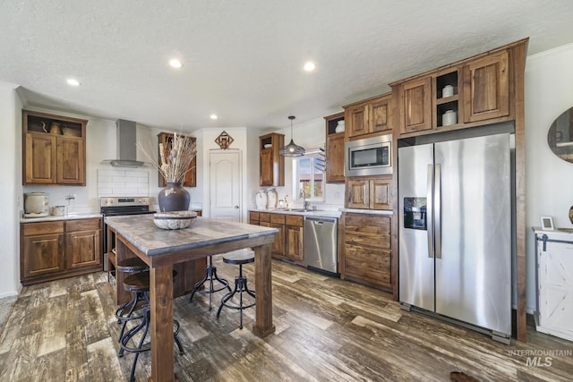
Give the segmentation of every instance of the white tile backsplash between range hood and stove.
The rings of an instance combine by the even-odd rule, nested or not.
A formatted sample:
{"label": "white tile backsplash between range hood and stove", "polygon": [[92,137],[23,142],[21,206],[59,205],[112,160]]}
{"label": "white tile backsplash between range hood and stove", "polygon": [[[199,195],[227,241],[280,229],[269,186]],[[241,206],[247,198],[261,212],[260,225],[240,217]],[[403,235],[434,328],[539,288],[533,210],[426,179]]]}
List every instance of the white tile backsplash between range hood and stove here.
{"label": "white tile backsplash between range hood and stove", "polygon": [[138,169],[98,169],[98,198],[150,196],[150,173]]}

